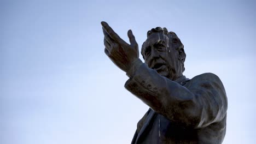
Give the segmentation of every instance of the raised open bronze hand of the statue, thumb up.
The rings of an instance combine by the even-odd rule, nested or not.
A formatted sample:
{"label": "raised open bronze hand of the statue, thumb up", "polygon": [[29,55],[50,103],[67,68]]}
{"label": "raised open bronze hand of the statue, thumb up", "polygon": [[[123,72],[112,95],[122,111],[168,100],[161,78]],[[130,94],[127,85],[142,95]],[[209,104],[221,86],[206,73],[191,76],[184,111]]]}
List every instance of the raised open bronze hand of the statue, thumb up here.
{"label": "raised open bronze hand of the statue, thumb up", "polygon": [[127,33],[131,43],[127,44],[111,27],[108,26],[107,22],[102,21],[101,25],[104,34],[106,55],[115,65],[127,73],[131,68],[132,63],[139,57],[138,44],[132,31],[129,30]]}

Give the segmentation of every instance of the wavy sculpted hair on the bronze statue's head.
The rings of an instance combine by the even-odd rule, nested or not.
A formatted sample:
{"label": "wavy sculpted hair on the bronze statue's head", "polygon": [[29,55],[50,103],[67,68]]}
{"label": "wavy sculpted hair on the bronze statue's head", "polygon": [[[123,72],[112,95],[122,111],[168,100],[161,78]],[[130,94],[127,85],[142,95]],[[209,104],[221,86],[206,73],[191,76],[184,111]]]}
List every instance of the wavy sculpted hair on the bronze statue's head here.
{"label": "wavy sculpted hair on the bronze statue's head", "polygon": [[[156,27],[156,28],[152,28],[150,31],[147,32],[147,38],[149,38],[149,35],[151,35],[153,33],[162,33],[162,34],[166,35],[168,37],[168,40],[171,41],[171,43],[177,43],[177,46],[174,47],[177,51],[179,51],[181,49],[183,49],[183,51],[184,51],[184,45],[182,44],[181,40],[178,38],[176,33],[168,32],[167,28],[165,28],[165,27],[164,28]],[[141,54],[143,56],[143,59],[145,59],[144,58],[144,43],[142,44],[142,47],[141,47]],[[185,54],[185,51],[184,51],[184,54]],[[185,58],[186,58],[186,55],[185,55]],[[182,72],[185,71],[185,68],[184,68],[185,58],[181,59]]]}

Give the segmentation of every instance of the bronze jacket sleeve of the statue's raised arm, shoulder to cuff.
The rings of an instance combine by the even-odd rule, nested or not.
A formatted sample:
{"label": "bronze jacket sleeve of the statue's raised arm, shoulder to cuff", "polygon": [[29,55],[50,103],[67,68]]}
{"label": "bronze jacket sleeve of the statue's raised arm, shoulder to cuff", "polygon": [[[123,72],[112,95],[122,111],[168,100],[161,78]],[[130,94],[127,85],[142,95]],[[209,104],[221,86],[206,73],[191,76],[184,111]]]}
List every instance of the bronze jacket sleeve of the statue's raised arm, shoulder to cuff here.
{"label": "bronze jacket sleeve of the statue's raised arm, shoulder to cuff", "polygon": [[155,112],[184,127],[202,128],[222,121],[228,109],[219,77],[206,73],[184,86],[141,64],[125,88]]}

